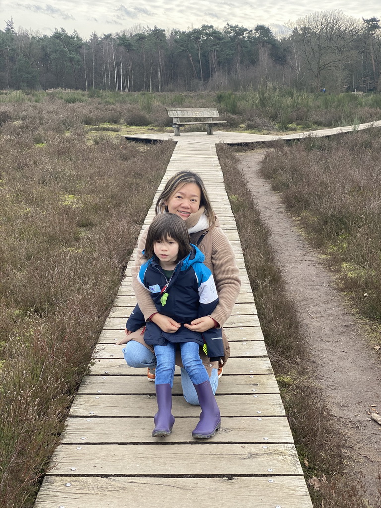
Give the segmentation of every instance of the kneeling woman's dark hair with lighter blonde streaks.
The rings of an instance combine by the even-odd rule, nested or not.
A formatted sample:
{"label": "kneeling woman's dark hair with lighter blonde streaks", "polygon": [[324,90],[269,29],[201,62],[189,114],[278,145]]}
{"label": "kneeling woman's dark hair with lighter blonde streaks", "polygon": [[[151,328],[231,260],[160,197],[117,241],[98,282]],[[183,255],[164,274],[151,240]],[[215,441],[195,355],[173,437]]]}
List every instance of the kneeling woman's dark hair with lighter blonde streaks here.
{"label": "kneeling woman's dark hair with lighter blonde streaks", "polygon": [[214,211],[209,200],[208,192],[205,188],[201,176],[198,175],[197,173],[194,173],[193,171],[186,170],[178,171],[173,176],[171,176],[171,178],[165,184],[162,194],[158,197],[156,201],[155,208],[156,215],[168,211],[167,207],[164,204],[164,201],[168,201],[177,192],[177,190],[186,183],[196,183],[196,185],[200,187],[201,191],[200,206],[205,206],[205,215],[209,219],[210,226],[213,226],[215,221]]}

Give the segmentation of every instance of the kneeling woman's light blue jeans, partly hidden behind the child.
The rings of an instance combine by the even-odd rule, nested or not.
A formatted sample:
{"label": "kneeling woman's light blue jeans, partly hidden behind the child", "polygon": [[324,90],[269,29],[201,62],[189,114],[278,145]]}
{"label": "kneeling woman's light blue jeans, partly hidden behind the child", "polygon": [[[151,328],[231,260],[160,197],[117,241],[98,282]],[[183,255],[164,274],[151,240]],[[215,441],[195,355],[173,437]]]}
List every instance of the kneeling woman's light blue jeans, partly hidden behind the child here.
{"label": "kneeling woman's light blue jeans, partly hidden behind the child", "polygon": [[[140,342],[136,340],[130,340],[122,348],[122,353],[126,363],[130,367],[156,367],[156,357]],[[196,389],[192,383],[192,380],[186,373],[186,370],[181,367],[181,387],[184,399],[188,404],[199,405],[199,398]],[[218,372],[217,369],[212,369],[210,376],[210,384],[212,386],[213,393],[215,394],[218,388]]]}

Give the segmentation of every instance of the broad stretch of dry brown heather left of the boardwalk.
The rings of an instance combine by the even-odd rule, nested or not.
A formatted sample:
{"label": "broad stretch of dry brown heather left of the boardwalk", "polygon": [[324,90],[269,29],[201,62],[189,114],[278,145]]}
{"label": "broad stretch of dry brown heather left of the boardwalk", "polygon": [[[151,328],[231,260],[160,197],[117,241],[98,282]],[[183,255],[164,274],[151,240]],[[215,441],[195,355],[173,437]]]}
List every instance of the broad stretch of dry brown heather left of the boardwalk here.
{"label": "broad stretch of dry brown heather left of the boardwalk", "polygon": [[172,151],[53,106],[0,136],[2,508],[33,505]]}

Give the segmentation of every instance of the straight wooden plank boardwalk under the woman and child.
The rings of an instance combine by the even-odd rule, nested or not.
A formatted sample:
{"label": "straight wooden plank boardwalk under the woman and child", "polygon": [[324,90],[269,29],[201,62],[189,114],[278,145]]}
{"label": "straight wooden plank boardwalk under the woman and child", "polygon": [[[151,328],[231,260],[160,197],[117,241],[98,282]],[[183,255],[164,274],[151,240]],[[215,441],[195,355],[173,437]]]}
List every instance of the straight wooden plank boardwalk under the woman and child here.
{"label": "straight wooden plank boardwalk under the woman and child", "polygon": [[[173,433],[167,438],[151,436],[154,385],[147,382],[146,369],[125,364],[121,346],[114,344],[135,305],[130,274],[135,250],[35,508],[312,508],[267,355],[215,145],[180,138],[156,197],[180,169],[194,170],[204,179],[242,279],[225,326],[232,355],[217,391],[222,428],[207,441],[192,437],[200,407],[184,401],[176,370]],[[153,215],[152,205],[142,231]]]}

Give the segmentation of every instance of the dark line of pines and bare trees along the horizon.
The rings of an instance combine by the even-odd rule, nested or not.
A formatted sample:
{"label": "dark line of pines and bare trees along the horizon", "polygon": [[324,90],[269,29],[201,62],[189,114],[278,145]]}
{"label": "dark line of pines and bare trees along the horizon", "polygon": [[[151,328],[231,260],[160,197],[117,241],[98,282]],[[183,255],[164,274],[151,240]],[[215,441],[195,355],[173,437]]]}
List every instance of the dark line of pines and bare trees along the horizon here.
{"label": "dark line of pines and bare trees along the horizon", "polygon": [[322,11],[275,37],[268,26],[192,30],[138,27],[89,40],[65,28],[0,30],[0,89],[381,91],[381,26]]}

